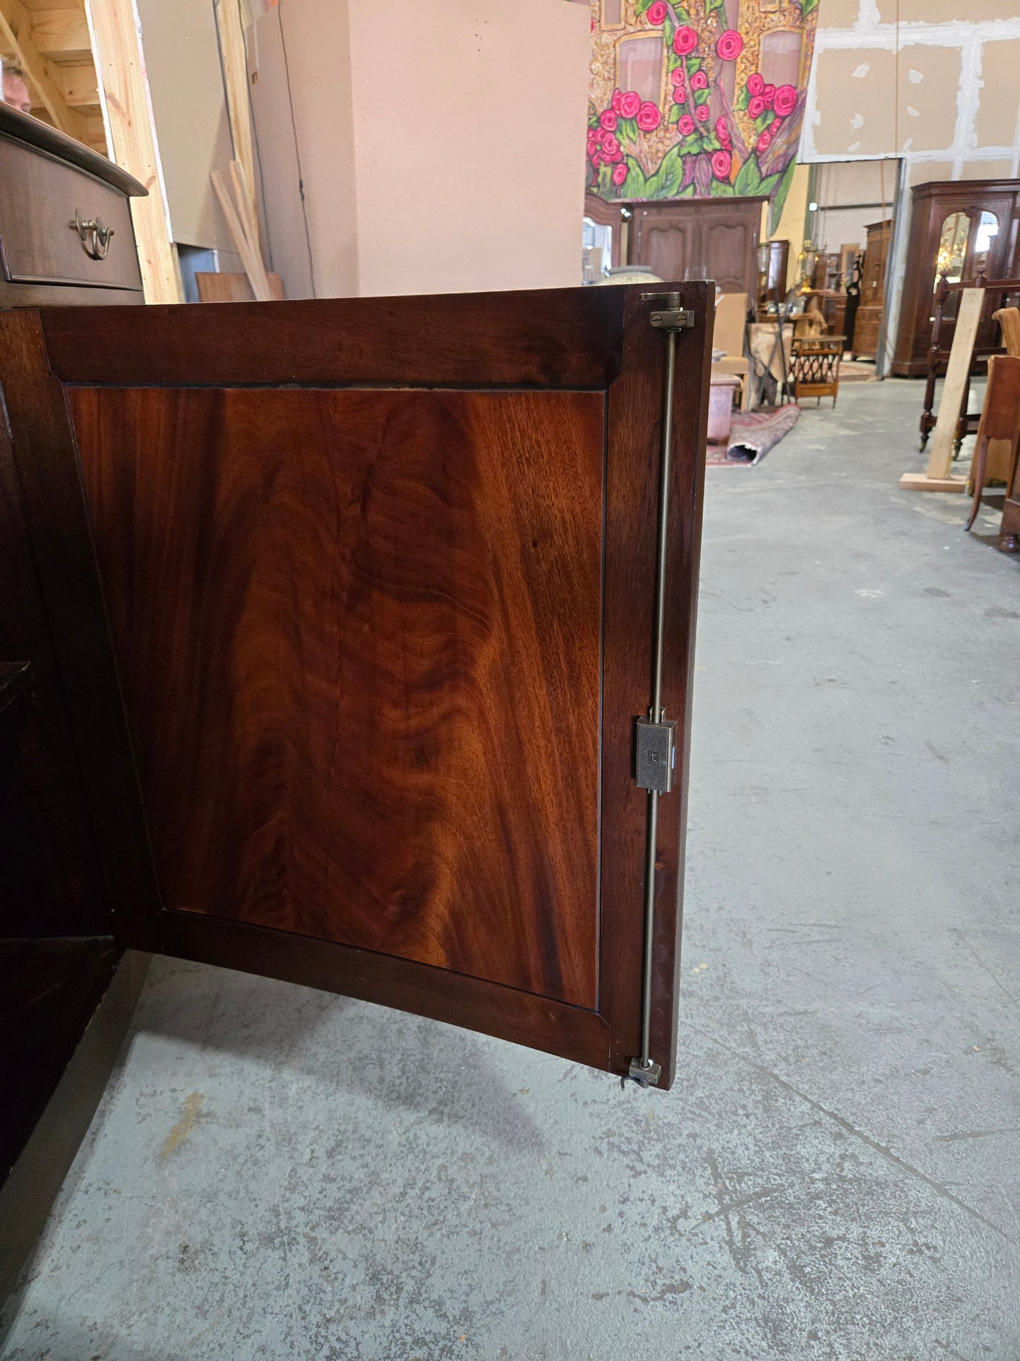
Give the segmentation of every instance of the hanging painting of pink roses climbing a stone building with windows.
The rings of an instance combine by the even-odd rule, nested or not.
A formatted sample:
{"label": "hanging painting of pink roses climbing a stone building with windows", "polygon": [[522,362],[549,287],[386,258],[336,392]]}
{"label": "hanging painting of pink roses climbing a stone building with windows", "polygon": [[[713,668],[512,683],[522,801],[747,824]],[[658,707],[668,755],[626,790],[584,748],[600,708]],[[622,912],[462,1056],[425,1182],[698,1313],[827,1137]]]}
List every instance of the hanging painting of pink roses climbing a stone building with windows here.
{"label": "hanging painting of pink roses climbing a stone building with windows", "polygon": [[592,0],[588,192],[786,197],[817,0]]}

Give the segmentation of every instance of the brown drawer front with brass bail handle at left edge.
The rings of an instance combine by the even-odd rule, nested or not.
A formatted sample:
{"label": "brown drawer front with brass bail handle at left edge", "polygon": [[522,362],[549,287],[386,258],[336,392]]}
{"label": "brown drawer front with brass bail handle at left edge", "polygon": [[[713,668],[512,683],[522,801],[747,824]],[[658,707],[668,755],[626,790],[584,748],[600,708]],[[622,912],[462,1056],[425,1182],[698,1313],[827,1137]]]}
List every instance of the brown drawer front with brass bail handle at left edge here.
{"label": "brown drawer front with brass bail handle at left edge", "polygon": [[[76,212],[113,229],[105,260],[71,226]],[[0,139],[0,268],[8,283],[140,290],[128,200],[84,170]]]}

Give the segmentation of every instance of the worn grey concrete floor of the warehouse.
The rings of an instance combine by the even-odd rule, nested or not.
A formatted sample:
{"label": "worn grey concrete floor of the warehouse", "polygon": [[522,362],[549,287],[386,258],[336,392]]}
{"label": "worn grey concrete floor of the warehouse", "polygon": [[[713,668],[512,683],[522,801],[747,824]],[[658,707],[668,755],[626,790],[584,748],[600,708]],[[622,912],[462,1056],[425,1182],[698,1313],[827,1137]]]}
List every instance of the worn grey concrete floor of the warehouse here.
{"label": "worn grey concrete floor of the warehouse", "polygon": [[710,470],[673,1092],[156,961],[4,1358],[1020,1357],[1020,562],[919,406]]}

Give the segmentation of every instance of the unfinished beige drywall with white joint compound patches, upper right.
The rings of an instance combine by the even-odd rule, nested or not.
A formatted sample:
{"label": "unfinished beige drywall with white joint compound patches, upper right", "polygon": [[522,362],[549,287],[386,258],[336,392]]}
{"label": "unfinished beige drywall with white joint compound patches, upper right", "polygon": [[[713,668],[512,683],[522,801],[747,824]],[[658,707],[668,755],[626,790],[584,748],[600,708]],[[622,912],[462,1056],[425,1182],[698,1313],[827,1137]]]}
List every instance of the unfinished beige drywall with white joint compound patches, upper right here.
{"label": "unfinished beige drywall with white joint compound patches, upper right", "polygon": [[1017,0],[820,0],[801,159],[900,155],[914,184],[1013,177],[1019,71]]}

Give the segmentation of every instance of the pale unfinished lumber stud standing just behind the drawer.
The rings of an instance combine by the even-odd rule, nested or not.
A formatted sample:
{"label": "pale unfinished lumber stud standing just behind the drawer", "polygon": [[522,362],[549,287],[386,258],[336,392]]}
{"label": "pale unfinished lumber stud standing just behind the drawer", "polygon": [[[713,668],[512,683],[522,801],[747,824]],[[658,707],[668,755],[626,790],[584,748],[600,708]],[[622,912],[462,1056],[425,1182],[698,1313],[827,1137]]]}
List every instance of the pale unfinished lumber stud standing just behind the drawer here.
{"label": "pale unfinished lumber stud standing just behind the drawer", "polygon": [[112,158],[148,189],[131,200],[146,302],[184,302],[135,0],[86,0]]}

